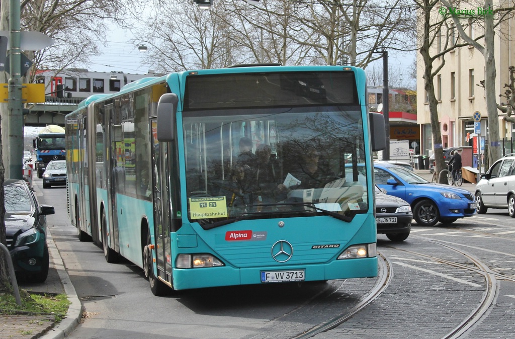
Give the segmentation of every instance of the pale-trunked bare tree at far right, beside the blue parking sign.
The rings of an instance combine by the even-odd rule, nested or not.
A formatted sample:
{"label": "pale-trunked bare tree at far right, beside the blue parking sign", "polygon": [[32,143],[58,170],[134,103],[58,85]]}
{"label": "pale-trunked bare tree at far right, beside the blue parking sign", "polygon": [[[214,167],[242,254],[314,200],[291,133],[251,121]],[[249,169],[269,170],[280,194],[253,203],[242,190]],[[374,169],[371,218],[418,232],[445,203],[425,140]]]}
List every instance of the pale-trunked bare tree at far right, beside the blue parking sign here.
{"label": "pale-trunked bare tree at far right, beside the blue parking sign", "polygon": [[[499,114],[497,113],[497,99],[495,91],[495,78],[497,76],[495,70],[495,27],[508,19],[508,14],[515,8],[513,3],[499,8],[493,8],[489,0],[485,1],[452,1],[440,0],[446,8],[449,9],[450,16],[454,25],[459,31],[460,37],[468,44],[474,46],[479,53],[483,54],[485,59],[485,98],[486,109],[488,114],[488,160],[492,164],[495,160],[501,158],[501,143],[499,135]],[[477,6],[480,4],[480,6]],[[472,39],[464,29],[464,25],[459,21],[459,15],[455,15],[456,10],[459,11],[460,6],[469,5],[472,8],[483,9],[482,15],[477,15],[476,18],[484,18],[484,46],[477,42],[477,39]]]}

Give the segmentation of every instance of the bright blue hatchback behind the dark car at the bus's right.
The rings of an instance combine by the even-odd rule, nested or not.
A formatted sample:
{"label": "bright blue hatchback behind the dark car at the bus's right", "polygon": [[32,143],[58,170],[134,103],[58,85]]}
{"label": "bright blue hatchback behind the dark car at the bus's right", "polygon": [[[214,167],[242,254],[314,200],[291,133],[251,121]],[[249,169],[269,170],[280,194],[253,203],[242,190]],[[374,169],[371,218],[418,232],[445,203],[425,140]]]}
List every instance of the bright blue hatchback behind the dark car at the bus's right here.
{"label": "bright blue hatchback behind the dark car at the bus's right", "polygon": [[404,199],[411,205],[418,225],[451,224],[475,214],[477,202],[469,191],[431,183],[403,167],[374,163],[374,179],[387,194]]}

